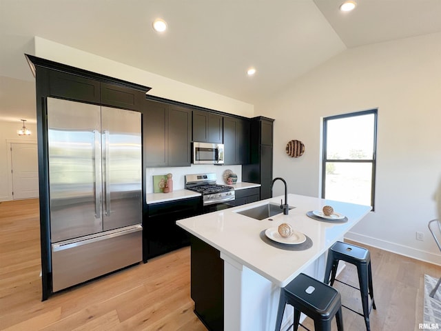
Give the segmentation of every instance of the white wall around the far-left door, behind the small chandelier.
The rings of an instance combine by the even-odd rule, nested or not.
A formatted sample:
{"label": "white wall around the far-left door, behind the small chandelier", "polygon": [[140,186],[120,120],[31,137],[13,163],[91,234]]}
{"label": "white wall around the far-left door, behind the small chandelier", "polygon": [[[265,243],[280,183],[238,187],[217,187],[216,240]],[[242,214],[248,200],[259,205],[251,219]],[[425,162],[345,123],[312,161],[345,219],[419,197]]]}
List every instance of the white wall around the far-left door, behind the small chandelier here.
{"label": "white wall around the far-left door, behind the small chandelier", "polygon": [[32,131],[30,136],[19,136],[17,130],[23,122],[0,121],[0,201],[12,200],[11,160],[8,141],[37,141],[37,126],[26,122],[26,128]]}

